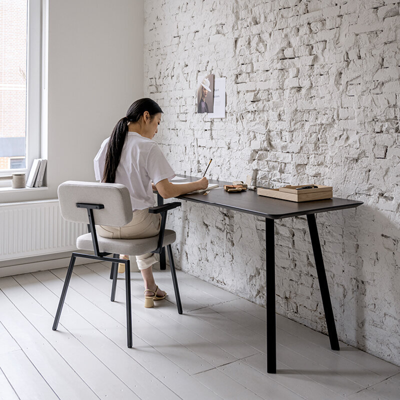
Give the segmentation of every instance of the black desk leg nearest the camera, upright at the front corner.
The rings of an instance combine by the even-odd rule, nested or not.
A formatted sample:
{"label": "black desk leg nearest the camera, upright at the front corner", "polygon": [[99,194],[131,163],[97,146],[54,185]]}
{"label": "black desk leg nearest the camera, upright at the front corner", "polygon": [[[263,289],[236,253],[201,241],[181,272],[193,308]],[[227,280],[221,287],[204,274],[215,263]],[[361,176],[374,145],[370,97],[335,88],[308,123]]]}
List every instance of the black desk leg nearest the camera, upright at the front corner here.
{"label": "black desk leg nearest the camera, upright at the front corner", "polygon": [[266,259],[266,371],[276,373],[275,225],[265,218]]}

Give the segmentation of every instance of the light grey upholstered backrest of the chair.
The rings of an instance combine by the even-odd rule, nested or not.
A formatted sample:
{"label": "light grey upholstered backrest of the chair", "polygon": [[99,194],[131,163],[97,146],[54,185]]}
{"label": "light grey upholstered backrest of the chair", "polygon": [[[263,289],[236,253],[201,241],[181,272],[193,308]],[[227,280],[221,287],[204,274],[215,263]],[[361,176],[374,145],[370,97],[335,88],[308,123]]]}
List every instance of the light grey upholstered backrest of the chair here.
{"label": "light grey upholstered backrest of the chair", "polygon": [[73,222],[87,223],[87,209],[76,203],[103,204],[93,209],[94,222],[98,225],[122,226],[132,220],[129,190],[119,183],[82,182],[67,180],[58,186],[61,215]]}

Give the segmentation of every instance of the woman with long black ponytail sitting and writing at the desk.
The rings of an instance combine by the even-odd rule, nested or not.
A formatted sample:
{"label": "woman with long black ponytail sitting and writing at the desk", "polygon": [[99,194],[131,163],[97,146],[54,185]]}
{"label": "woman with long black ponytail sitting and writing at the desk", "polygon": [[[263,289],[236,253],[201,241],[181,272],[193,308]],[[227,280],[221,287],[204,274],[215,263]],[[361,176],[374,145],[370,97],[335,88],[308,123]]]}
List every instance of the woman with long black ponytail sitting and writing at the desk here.
{"label": "woman with long black ponytail sitting and writing at the desk", "polygon": [[[111,136],[105,139],[94,158],[96,180],[122,183],[130,194],[133,218],[121,227],[97,227],[103,237],[137,239],[158,234],[161,216],[151,214],[148,207],[154,205],[153,189],[163,198],[176,197],[197,189],[205,189],[208,180],[203,177],[195,182],[173,184],[175,176],[171,166],[158,145],[152,140],[161,121],[162,110],[150,98],[136,100],[127,110],[126,116],[116,123]],[[127,259],[123,254],[121,258]],[[152,307],[166,293],[154,282],[152,264],[157,262],[155,254],[136,255],[137,266],[144,281],[144,306]],[[120,263],[118,271],[124,264]]]}

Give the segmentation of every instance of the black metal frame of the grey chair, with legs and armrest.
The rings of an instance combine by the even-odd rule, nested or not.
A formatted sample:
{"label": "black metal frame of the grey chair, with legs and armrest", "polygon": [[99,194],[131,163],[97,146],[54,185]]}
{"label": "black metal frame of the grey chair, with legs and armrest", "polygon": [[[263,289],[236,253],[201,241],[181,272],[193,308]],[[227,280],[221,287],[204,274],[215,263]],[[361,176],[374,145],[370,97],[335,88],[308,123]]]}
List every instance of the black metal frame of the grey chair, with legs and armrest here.
{"label": "black metal frame of the grey chair, with legs and armrest", "polygon": [[[169,209],[173,209],[176,207],[180,206],[179,201],[174,201],[171,203],[159,205],[156,207],[150,207],[148,209],[148,212],[153,213],[153,214],[161,214],[161,227],[160,231],[158,234],[158,241],[157,241],[157,248],[151,252],[153,253],[161,253],[162,251],[162,241],[164,238],[164,231],[165,231],[165,221],[166,221],[166,213]],[[132,347],[132,309],[131,309],[131,302],[130,302],[130,261],[120,259],[119,254],[113,253],[112,257],[108,257],[111,253],[107,252],[100,252],[98,249],[98,241],[97,241],[97,235],[96,235],[96,228],[95,228],[95,223],[94,223],[94,216],[93,216],[93,209],[102,209],[104,208],[103,204],[89,204],[89,203],[76,203],[76,207],[78,208],[86,208],[87,209],[87,216],[89,219],[89,223],[87,224],[88,231],[91,233],[91,240],[93,242],[93,249],[94,249],[94,254],[85,254],[85,253],[78,253],[78,252],[72,252],[71,254],[71,259],[69,261],[69,266],[68,270],[66,272],[65,280],[64,280],[64,285],[62,287],[62,292],[61,296],[58,302],[58,308],[57,312],[55,314],[54,318],[54,323],[52,326],[53,330],[57,329],[58,326],[58,321],[61,315],[62,311],[62,306],[64,305],[64,300],[65,300],[65,295],[66,295],[66,290],[68,289],[69,281],[72,275],[72,269],[73,265],[75,263],[75,259],[77,257],[82,257],[82,258],[90,258],[90,259],[97,259],[99,261],[108,261],[112,262],[111,265],[111,274],[110,274],[110,279],[112,279],[112,287],[111,287],[111,301],[115,300],[115,290],[116,290],[116,281],[117,281],[117,272],[118,272],[118,263],[123,262],[125,264],[125,291],[126,291],[126,333],[127,333],[127,346]],[[173,283],[173,289],[175,291],[175,299],[176,299],[176,306],[178,309],[178,313],[182,313],[182,304],[180,302],[180,295],[179,295],[179,288],[178,288],[178,282],[176,279],[176,271],[175,271],[175,265],[173,262],[173,257],[172,257],[172,250],[171,250],[171,245],[167,245],[167,251],[168,251],[168,257],[169,257],[169,263],[170,263],[170,269],[171,269],[171,275],[172,275],[172,283]]]}

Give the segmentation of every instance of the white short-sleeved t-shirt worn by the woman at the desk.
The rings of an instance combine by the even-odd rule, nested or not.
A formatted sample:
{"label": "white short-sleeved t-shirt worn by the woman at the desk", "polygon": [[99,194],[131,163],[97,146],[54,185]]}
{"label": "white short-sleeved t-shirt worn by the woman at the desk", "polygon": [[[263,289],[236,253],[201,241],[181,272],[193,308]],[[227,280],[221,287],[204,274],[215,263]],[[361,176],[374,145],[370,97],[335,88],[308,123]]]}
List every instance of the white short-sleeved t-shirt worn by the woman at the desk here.
{"label": "white short-sleeved t-shirt worn by the woman at the desk", "polygon": [[[108,140],[109,137],[101,143],[93,160],[94,174],[96,180],[100,181]],[[173,169],[155,141],[136,132],[127,133],[114,183],[122,183],[128,188],[133,211],[154,205],[151,181],[156,184],[162,179],[170,180],[174,176]]]}

